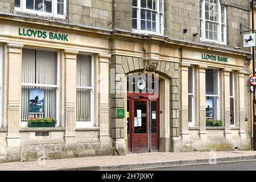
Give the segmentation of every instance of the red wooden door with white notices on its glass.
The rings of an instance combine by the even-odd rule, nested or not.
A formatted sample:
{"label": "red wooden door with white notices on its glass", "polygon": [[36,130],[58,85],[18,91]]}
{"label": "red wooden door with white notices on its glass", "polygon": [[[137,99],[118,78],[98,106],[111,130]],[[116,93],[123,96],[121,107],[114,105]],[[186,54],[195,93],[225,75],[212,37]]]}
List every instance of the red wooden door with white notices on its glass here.
{"label": "red wooden door with white notices on its glass", "polygon": [[148,152],[148,119],[147,99],[132,101],[132,150],[133,152]]}

